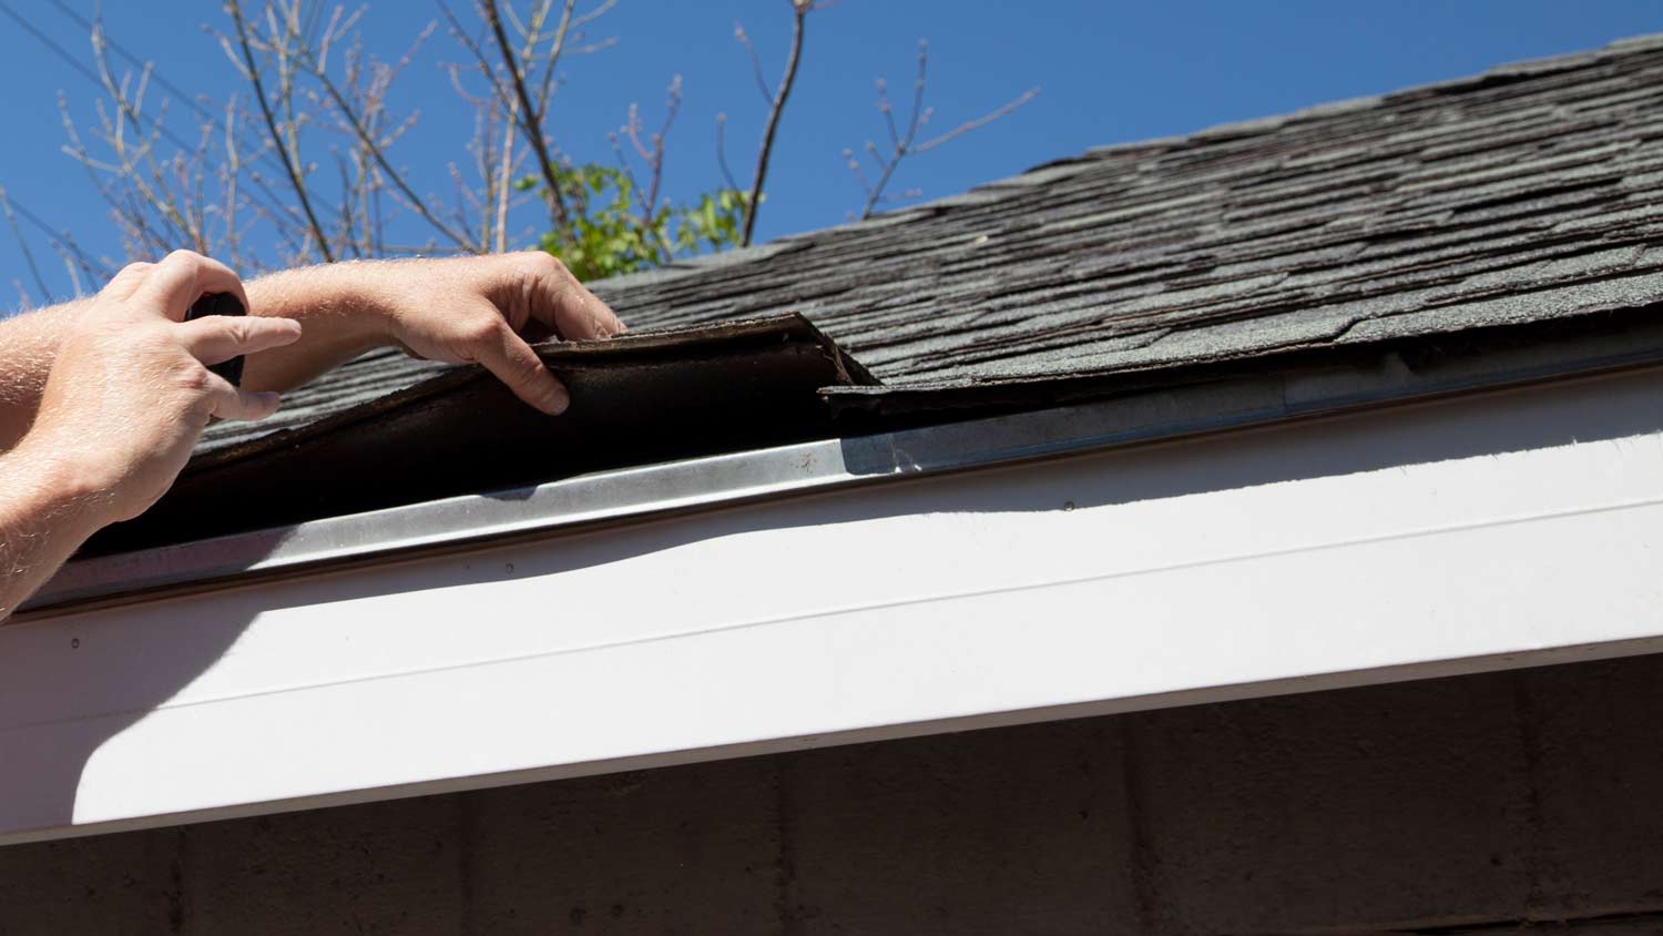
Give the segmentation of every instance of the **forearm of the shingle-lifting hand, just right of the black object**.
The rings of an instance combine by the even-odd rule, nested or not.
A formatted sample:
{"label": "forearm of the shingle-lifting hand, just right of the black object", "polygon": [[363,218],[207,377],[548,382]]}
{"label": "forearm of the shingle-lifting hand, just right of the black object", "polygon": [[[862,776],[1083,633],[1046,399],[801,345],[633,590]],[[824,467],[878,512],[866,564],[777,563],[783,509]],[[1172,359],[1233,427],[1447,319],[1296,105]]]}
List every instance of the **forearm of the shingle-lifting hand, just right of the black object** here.
{"label": "forearm of the shingle-lifting hand, just right of the black object", "polygon": [[382,264],[336,263],[261,276],[244,284],[256,316],[296,319],[301,341],[249,357],[243,386],[288,391],[366,351],[391,342],[376,294]]}

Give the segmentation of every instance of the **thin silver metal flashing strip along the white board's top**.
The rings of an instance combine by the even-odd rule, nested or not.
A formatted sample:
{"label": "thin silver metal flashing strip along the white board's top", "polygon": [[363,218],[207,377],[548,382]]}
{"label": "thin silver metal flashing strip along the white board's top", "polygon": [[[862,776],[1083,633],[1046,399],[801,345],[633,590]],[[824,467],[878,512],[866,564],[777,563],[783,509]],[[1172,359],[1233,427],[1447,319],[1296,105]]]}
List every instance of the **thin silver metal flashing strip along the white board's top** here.
{"label": "thin silver metal flashing strip along the white board's top", "polygon": [[1580,337],[1420,369],[1409,367],[1397,354],[1384,354],[1374,367],[1355,362],[1309,367],[923,429],[605,470],[517,490],[75,560],[20,613],[1656,362],[1663,362],[1663,334],[1658,341],[1636,341],[1633,334]]}

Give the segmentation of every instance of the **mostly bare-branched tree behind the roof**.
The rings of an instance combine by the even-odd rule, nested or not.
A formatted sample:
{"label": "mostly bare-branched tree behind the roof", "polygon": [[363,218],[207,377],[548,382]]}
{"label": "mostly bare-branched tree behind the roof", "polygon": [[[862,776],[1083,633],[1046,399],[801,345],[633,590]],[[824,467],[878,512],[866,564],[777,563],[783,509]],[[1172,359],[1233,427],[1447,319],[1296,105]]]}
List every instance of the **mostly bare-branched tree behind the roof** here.
{"label": "mostly bare-branched tree behind the roof", "polygon": [[[223,100],[183,93],[153,63],[106,37],[98,20],[80,18],[63,0],[52,2],[88,30],[90,65],[73,63],[101,90],[90,126],[72,118],[60,93],[65,150],[110,204],[131,258],[186,246],[258,273],[314,261],[482,254],[535,244],[589,279],[752,241],[805,35],[835,0],[782,0],[792,17],[792,40],[775,83],[767,80],[762,55],[745,30],[735,25],[767,101],[765,128],[753,170],[740,183],[727,163],[718,116],[720,183],[690,198],[672,198],[664,190],[667,141],[682,105],[680,76],[670,81],[657,128],[645,128],[640,108],[630,106],[624,125],[607,136],[610,165],[574,161],[550,126],[560,65],[612,45],[592,40],[590,32],[617,0],[585,0],[584,8],[579,0],[437,0],[439,18],[391,62],[364,52],[363,8],[349,12],[318,0],[226,0],[223,22],[206,27],[241,76]],[[461,7],[464,2],[469,5]],[[10,8],[3,12],[50,43]],[[451,85],[477,115],[472,138],[447,165],[449,200],[431,195],[432,180],[409,178],[392,158],[417,120],[416,111],[396,106],[397,78],[441,25],[462,58],[447,67]],[[931,116],[923,106],[926,50],[921,43],[905,133],[878,83],[890,146],[866,143],[875,181],[868,183],[853,151],[845,151],[865,188],[860,216],[895,201],[885,188],[903,158],[984,126],[1036,93],[920,141]],[[195,138],[173,130],[176,121],[168,120],[168,111],[178,106],[190,108]],[[80,249],[72,236],[17,208],[65,258],[76,289],[83,276],[96,281],[108,274],[108,264]],[[37,289],[50,299],[3,190],[0,209],[35,271]],[[407,221],[416,221],[421,234],[412,243],[389,241],[394,218],[404,221],[399,229],[406,231]],[[27,291],[18,288],[27,303]]]}

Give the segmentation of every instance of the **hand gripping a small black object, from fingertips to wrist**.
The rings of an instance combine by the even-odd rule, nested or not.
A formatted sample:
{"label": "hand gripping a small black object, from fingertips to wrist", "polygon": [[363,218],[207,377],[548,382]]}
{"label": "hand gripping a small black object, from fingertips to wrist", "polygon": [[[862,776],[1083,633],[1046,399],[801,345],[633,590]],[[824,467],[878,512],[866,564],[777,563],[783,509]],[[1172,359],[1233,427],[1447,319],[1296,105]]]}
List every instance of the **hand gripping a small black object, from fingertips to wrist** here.
{"label": "hand gripping a small black object, from fingertips to wrist", "polygon": [[183,321],[208,293],[248,303],[226,266],[176,251],[135,263],[100,291],[58,346],[40,412],[22,446],[63,466],[101,499],[103,524],[145,512],[190,459],[210,419],[264,419],[274,392],[248,392],[208,371],[238,354],[291,344],[286,318]]}

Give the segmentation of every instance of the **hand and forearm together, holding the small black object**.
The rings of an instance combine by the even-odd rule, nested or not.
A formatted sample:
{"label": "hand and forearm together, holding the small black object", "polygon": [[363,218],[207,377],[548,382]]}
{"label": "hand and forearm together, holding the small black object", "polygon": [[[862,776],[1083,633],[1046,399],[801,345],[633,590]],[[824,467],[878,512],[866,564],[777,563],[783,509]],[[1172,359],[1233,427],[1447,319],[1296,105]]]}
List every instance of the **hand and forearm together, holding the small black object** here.
{"label": "hand and forearm together, holding the small black object", "polygon": [[236,273],[175,251],[123,268],[68,328],[35,336],[30,347],[47,346],[50,374],[33,394],[28,432],[0,456],[0,618],[86,537],[155,505],[210,421],[276,409],[276,394],[236,389],[208,366],[293,344],[301,328],[278,318],[185,321],[201,296],[225,293],[243,293]]}

